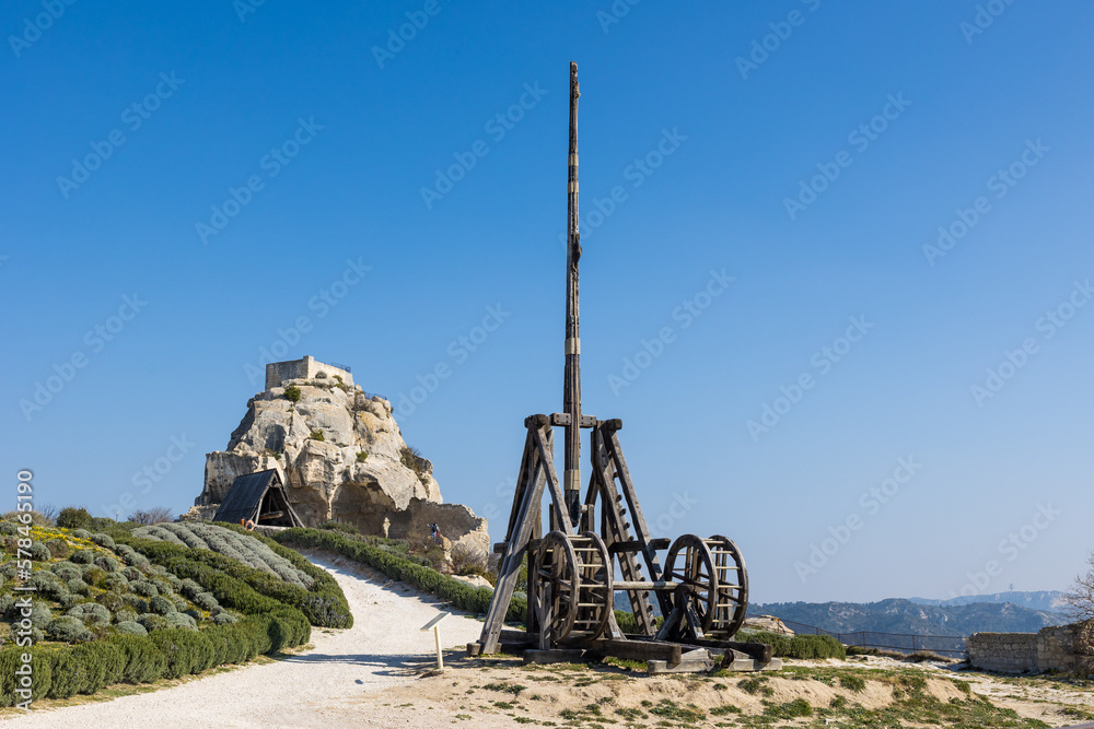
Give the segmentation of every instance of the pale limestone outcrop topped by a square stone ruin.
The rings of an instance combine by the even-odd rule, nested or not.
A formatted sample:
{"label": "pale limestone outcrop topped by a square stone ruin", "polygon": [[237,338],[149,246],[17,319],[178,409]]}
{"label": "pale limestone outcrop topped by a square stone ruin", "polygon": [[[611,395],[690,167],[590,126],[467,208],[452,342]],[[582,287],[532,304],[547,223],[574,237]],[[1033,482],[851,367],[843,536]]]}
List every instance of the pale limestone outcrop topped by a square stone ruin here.
{"label": "pale limestone outcrop topped by a square stone ruin", "polygon": [[424,540],[437,522],[453,545],[487,553],[486,519],[442,502],[432,463],[407,447],[391,402],[311,363],[311,377],[269,376],[228,448],[206,456],[194,515],[211,517],[237,475],[272,468],[305,526],[338,519],[366,534]]}

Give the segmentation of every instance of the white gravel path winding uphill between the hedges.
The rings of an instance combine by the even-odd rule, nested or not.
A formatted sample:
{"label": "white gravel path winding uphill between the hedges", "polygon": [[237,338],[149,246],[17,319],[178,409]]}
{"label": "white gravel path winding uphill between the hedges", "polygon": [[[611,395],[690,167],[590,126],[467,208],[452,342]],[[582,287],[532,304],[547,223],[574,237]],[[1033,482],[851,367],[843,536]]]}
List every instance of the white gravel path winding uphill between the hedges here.
{"label": "white gravel path winding uphill between the hedges", "polygon": [[[312,630],[314,648],[265,666],[248,666],[149,694],[39,709],[12,727],[341,727],[376,726],[362,713],[368,692],[409,683],[435,655],[432,631],[419,628],[441,611],[429,595],[330,555],[309,558],[335,576],[353,612],[348,631]],[[461,614],[441,623],[441,645],[476,639],[482,624]],[[372,720],[370,720],[372,719]]]}

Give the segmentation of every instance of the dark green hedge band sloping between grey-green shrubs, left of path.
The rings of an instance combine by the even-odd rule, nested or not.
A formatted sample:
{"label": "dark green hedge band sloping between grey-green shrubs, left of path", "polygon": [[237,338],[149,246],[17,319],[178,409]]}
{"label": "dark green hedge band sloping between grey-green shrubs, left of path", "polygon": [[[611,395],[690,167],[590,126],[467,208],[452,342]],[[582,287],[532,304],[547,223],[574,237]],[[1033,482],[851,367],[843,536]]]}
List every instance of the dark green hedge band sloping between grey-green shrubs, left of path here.
{"label": "dark green hedge band sloping between grey-green shrubs, left of path", "polygon": [[[334,577],[301,555],[296,558],[312,568],[311,589],[286,583],[280,577],[209,550],[194,550],[168,542],[135,537],[119,538],[158,565],[177,577],[196,580],[226,608],[245,614],[276,611],[286,605],[299,610],[312,625],[350,627],[353,615]],[[291,550],[280,548],[286,553]],[[289,558],[289,557],[287,557]]]}

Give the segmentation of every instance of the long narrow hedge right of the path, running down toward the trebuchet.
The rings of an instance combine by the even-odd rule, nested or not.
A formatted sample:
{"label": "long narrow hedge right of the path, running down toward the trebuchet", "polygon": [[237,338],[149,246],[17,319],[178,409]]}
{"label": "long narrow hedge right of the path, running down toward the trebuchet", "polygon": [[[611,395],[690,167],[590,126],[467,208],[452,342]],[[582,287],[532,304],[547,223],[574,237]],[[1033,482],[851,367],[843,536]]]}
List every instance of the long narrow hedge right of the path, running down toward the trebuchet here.
{"label": "long narrow hedge right of the path, running down toward the trebuchet", "polygon": [[[353,562],[366,564],[379,569],[393,579],[414,585],[420,590],[447,600],[461,610],[474,613],[486,613],[493,598],[493,590],[487,587],[472,587],[458,579],[417,564],[405,557],[366,544],[347,539],[345,536],[329,530],[293,528],[279,531],[274,537],[282,544],[294,548],[318,549],[335,552]],[[509,605],[505,620],[524,622],[527,616],[527,603],[524,598],[514,597]]]}

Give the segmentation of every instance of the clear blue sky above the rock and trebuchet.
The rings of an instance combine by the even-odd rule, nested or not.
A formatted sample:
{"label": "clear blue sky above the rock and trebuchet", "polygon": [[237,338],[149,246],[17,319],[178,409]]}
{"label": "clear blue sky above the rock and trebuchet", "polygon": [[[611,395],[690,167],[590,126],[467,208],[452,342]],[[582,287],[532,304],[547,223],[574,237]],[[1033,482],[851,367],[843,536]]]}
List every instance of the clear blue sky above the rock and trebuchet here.
{"label": "clear blue sky above the rock and trebuchet", "polygon": [[508,514],[523,419],[561,408],[574,59],[585,411],[624,420],[654,530],[734,538],[757,601],[1066,587],[1094,548],[1094,8],[685,4],[5,3],[11,503],[28,468],[43,503],[185,510],[276,346],[351,365],[446,501]]}

